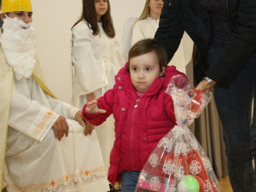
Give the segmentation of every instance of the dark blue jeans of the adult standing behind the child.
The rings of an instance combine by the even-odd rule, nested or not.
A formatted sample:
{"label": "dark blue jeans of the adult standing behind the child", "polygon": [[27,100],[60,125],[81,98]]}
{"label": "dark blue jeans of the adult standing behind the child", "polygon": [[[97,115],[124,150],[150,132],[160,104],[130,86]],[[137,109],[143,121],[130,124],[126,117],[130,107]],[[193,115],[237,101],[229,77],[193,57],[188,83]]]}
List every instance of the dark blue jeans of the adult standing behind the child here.
{"label": "dark blue jeans of the adult standing behind the child", "polygon": [[[209,50],[209,66],[219,57],[224,48]],[[253,192],[255,171],[252,158],[256,155],[256,54],[253,53],[248,63],[225,90],[216,87],[214,98],[223,126],[223,138],[226,148],[228,176],[233,192]],[[214,129],[214,127],[212,127]]]}

